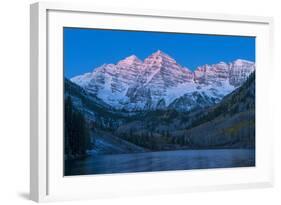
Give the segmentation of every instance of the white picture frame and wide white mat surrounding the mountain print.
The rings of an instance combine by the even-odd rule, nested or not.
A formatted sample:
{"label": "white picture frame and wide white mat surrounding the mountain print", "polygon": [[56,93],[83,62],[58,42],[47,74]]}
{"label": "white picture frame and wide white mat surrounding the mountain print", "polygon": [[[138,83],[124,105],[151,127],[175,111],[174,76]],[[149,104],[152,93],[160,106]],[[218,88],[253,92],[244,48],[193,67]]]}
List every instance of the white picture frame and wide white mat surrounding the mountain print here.
{"label": "white picture frame and wide white mat surrounding the mountain print", "polygon": [[[183,25],[189,25],[189,30]],[[64,26],[256,36],[256,166],[64,177],[61,120],[61,28]],[[273,186],[273,133],[271,114],[266,111],[270,89],[268,75],[273,72],[272,29],[273,19],[270,17],[98,8],[71,3],[32,4],[30,198],[41,202]]]}

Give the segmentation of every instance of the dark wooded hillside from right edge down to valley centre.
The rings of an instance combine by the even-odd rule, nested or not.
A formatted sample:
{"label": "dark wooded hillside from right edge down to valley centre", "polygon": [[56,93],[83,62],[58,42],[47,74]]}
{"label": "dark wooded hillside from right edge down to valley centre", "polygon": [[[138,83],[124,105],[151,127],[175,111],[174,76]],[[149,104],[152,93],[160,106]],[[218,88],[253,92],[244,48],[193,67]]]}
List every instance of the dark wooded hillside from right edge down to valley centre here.
{"label": "dark wooded hillside from right edge down to valley centre", "polygon": [[153,150],[254,148],[255,72],[212,107],[146,112],[118,127],[116,135]]}

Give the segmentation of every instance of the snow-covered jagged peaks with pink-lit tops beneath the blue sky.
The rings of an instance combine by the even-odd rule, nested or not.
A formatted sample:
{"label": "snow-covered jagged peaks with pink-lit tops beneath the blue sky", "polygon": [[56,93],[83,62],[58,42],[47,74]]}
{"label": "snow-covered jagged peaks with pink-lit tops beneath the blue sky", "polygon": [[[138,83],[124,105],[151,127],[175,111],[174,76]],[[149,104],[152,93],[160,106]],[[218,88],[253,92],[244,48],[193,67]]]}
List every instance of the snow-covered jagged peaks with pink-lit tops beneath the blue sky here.
{"label": "snow-covered jagged peaks with pink-lit tops beneath the blue sky", "polygon": [[238,59],[200,66],[192,72],[158,50],[144,61],[132,55],[71,81],[115,109],[189,111],[218,103],[254,70],[255,63]]}

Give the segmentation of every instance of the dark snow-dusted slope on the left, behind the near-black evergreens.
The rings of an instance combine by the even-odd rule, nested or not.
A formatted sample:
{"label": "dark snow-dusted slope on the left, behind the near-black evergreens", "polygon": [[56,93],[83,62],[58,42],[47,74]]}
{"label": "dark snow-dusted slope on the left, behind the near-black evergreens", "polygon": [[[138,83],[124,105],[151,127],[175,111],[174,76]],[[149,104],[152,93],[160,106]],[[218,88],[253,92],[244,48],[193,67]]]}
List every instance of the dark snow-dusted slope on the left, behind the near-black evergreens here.
{"label": "dark snow-dusted slope on the left, behind the near-black evergreens", "polygon": [[70,97],[73,109],[80,111],[86,118],[93,146],[91,154],[124,154],[147,151],[111,133],[111,130],[127,123],[130,120],[130,115],[114,110],[68,79],[64,79],[64,91],[64,98]]}

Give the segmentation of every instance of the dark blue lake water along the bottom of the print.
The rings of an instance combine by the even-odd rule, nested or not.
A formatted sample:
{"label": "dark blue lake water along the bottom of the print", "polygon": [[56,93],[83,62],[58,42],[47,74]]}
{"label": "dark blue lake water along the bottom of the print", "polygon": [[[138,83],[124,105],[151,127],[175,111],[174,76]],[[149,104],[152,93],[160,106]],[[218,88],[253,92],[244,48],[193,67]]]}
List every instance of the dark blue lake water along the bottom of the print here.
{"label": "dark blue lake water along the bottom of the print", "polygon": [[65,175],[108,174],[255,166],[254,149],[180,150],[95,155],[67,161]]}

